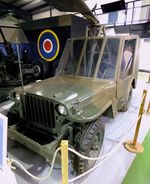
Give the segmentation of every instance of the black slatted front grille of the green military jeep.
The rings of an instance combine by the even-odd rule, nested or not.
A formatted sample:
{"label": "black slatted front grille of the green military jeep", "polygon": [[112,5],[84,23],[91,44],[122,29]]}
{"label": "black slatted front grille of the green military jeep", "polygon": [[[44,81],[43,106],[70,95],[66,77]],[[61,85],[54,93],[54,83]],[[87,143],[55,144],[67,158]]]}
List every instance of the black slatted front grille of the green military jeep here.
{"label": "black slatted front grille of the green military jeep", "polygon": [[23,118],[45,130],[55,128],[55,112],[53,102],[39,96],[21,95]]}

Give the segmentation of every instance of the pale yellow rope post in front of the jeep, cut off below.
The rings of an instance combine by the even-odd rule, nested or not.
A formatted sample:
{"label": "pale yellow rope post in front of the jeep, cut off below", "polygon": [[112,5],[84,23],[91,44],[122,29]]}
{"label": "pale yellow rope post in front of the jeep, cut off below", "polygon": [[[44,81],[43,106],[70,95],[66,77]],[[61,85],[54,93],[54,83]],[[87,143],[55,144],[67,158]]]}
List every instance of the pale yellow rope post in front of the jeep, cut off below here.
{"label": "pale yellow rope post in front of the jeep, cut off below", "polygon": [[62,184],[68,184],[68,141],[61,141]]}

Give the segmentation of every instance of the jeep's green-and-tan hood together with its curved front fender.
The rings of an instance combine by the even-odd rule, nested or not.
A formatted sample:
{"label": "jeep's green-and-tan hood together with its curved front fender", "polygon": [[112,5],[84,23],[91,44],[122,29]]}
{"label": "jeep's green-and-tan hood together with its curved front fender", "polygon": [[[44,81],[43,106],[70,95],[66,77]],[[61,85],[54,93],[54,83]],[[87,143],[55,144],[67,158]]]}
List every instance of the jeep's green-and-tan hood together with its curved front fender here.
{"label": "jeep's green-and-tan hood together with its curved front fender", "polygon": [[[65,105],[68,109],[66,119],[70,121],[88,122],[97,119],[112,104],[114,88],[113,81],[53,77],[26,86],[25,91]],[[76,108],[83,110],[82,117],[72,113],[71,108],[78,101]]]}

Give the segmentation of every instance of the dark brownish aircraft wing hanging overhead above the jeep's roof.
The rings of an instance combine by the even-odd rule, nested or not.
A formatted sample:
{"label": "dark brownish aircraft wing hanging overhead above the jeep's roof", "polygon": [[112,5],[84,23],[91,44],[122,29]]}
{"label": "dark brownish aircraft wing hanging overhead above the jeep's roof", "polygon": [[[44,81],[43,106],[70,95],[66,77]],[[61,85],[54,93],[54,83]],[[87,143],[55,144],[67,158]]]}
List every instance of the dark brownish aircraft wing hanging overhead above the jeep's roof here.
{"label": "dark brownish aircraft wing hanging overhead above the jeep's roof", "polygon": [[79,12],[81,13],[92,25],[98,24],[99,21],[84,3],[83,0],[45,0],[54,8],[64,12]]}

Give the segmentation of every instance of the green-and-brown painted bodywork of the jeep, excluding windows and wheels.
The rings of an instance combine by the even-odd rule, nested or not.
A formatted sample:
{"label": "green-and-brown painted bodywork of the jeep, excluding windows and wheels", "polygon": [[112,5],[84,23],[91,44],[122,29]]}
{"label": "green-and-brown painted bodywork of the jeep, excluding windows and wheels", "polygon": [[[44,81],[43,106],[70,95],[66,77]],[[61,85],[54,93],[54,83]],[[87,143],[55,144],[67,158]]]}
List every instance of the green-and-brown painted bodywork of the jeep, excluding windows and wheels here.
{"label": "green-and-brown painted bodywork of the jeep, excluding windows and wheels", "polygon": [[[102,56],[103,53],[105,53],[105,44],[107,39],[110,38],[112,38],[112,40],[119,39],[120,43],[117,52],[114,75],[109,79],[97,78]],[[77,74],[79,73],[79,67],[82,63],[82,57],[84,53],[88,53],[88,51],[84,50],[85,48],[88,48],[85,47],[85,44],[88,43],[88,39],[93,40],[92,42],[89,42],[92,44],[91,50],[97,49],[94,53],[98,53],[99,57],[96,57],[97,60],[92,59],[95,57],[94,54],[90,52],[90,64],[93,62],[97,63],[96,66],[91,65],[95,66],[94,72],[90,77],[87,77],[86,75],[78,76]],[[102,44],[101,49],[100,47],[96,47],[97,45],[95,44],[94,39],[102,40],[102,42],[100,42]],[[120,79],[119,73],[121,70],[123,46],[126,39],[137,40],[133,58],[134,69],[126,79]],[[16,109],[18,109],[21,121],[18,123],[15,122],[15,125],[9,127],[8,135],[10,138],[17,140],[48,159],[51,158],[62,139],[67,138],[69,143],[74,146],[76,132],[80,131],[87,123],[96,121],[101,115],[114,117],[117,111],[126,103],[132,83],[137,80],[137,53],[139,48],[137,36],[104,36],[103,39],[102,37],[86,37],[79,40],[84,40],[84,46],[81,52],[76,52],[76,54],[79,53],[81,55],[77,57],[79,59],[75,61],[78,63],[78,67],[74,73],[75,75],[62,74],[41,82],[29,84],[24,87],[23,92],[22,88],[15,89],[16,94],[21,95],[21,103],[20,100],[17,98],[15,99],[15,106]],[[73,42],[70,40],[69,43]],[[58,67],[60,71],[64,71],[63,67],[66,65],[68,49],[70,50],[69,47],[65,47],[65,49],[66,50],[64,50],[64,54],[61,59],[62,65],[60,64],[60,68]],[[67,114],[65,116],[58,112],[58,105],[63,105],[66,108]],[[49,111],[47,111],[47,109],[49,109]],[[37,116],[39,118],[37,118]],[[50,117],[49,121],[47,121],[48,117]],[[27,123],[25,123],[25,121],[27,121]],[[38,128],[38,131],[40,129],[40,131],[43,131],[44,133],[49,132],[48,135],[49,137],[52,136],[53,140],[48,144],[41,145],[38,141],[26,136],[26,133],[24,133],[26,131],[24,131],[23,128],[20,130],[20,127],[28,125],[31,126],[32,124],[35,126],[31,127],[32,133],[36,133],[36,129]]]}

